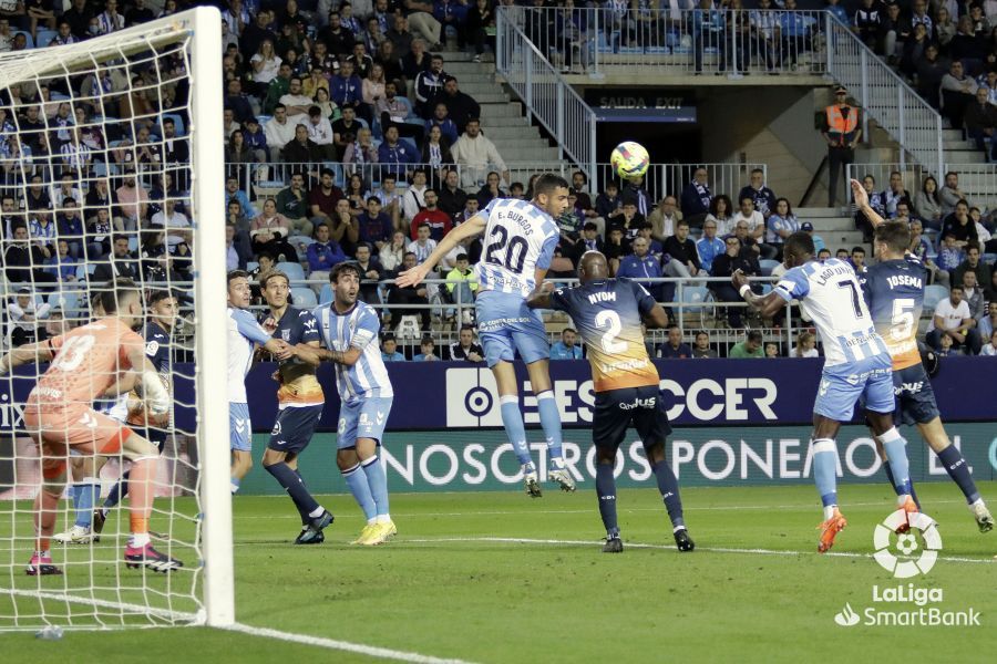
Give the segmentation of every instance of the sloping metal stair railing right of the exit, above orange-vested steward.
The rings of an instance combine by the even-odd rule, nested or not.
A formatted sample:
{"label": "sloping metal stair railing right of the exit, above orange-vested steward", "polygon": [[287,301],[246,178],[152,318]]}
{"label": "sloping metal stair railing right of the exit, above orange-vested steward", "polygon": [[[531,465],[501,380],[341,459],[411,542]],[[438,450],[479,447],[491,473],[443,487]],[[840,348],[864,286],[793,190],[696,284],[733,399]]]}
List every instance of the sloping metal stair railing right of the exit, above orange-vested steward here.
{"label": "sloping metal stair railing right of the exit, above orange-vested steward", "polygon": [[925,170],[944,173],[938,112],[834,14],[825,12],[824,20],[828,73],[845,85],[862,107],[863,135],[868,137],[872,117],[900,144],[902,170],[909,155]]}

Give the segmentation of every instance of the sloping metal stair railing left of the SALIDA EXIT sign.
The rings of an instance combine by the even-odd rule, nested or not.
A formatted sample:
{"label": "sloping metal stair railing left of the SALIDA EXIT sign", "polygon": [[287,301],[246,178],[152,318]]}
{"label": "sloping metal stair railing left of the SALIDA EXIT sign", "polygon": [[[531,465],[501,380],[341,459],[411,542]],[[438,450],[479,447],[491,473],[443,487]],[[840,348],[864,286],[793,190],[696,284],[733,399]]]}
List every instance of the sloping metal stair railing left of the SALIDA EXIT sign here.
{"label": "sloping metal stair railing left of the SALIDA EXIT sign", "polygon": [[498,8],[495,69],[523,101],[527,120],[536,117],[553,136],[559,156],[577,164],[592,179],[596,164],[595,113],[551,64],[548,53],[537,49],[523,32],[523,15],[520,8]]}

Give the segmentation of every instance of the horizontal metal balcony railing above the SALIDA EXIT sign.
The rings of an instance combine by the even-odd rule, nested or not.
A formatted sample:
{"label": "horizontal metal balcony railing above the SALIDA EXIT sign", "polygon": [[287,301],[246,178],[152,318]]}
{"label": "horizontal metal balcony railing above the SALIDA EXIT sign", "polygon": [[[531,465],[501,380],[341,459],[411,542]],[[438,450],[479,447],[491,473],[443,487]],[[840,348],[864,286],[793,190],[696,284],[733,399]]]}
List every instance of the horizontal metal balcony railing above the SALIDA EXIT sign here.
{"label": "horizontal metal balcony railing above the SALIDA EXIT sign", "polygon": [[[580,3],[578,3],[580,4]],[[562,73],[822,74],[823,11],[500,7]]]}

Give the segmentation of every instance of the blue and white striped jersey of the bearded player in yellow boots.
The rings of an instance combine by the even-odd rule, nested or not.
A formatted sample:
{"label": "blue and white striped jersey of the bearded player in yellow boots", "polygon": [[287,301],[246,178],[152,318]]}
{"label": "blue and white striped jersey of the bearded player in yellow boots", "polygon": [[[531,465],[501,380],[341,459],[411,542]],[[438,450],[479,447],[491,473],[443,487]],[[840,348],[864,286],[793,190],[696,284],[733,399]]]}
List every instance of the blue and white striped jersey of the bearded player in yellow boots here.
{"label": "blue and white striped jersey of the bearded player in yellow boots", "polygon": [[330,351],[348,351],[359,349],[360,359],[352,366],[333,364],[336,370],[336,388],[343,403],[354,403],[361,398],[394,396],[391,380],[381,349],[378,345],[378,333],[381,322],[372,307],[363,302],[346,313],[339,313],[332,305],[320,304],[312,311],[319,322],[322,342]]}

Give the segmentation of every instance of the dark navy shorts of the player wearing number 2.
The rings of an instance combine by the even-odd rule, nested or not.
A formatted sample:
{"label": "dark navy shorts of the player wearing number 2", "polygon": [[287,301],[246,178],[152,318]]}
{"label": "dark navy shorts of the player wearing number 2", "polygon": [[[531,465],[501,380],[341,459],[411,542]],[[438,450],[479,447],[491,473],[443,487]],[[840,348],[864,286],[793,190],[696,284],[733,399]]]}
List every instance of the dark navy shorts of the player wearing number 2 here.
{"label": "dark navy shorts of the player wearing number 2", "polygon": [[630,426],[637,429],[645,449],[665,444],[665,438],[671,434],[671,424],[658,385],[596,392],[592,422],[595,446],[618,449]]}

